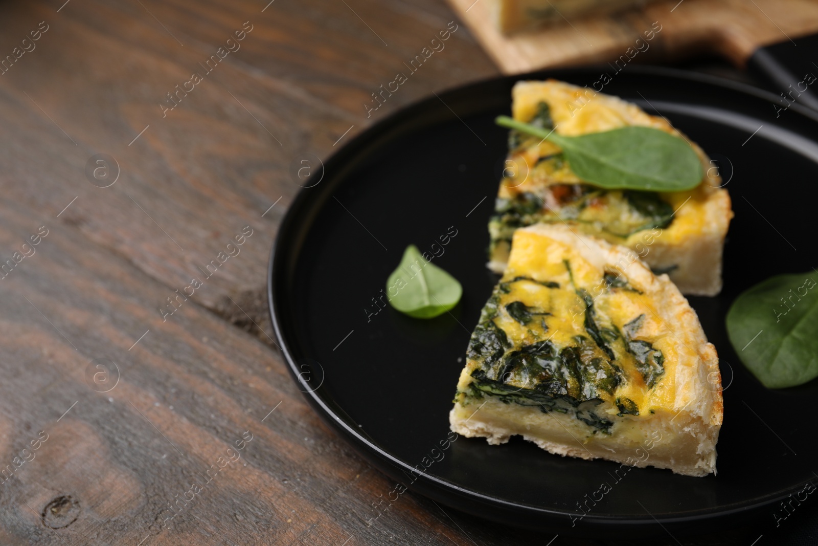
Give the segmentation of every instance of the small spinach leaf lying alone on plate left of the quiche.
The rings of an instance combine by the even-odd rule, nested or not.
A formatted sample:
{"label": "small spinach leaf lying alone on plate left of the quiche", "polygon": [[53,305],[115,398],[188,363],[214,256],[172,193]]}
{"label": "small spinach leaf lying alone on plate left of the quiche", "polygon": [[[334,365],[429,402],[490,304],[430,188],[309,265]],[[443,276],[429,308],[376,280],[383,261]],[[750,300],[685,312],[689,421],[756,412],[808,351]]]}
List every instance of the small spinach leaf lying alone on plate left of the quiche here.
{"label": "small spinach leaf lying alone on plate left of the quiche", "polygon": [[[452,275],[429,263],[409,245],[403,259],[386,282],[389,304],[403,314],[415,318],[434,318],[446,313],[460,301],[461,283]],[[394,291],[397,294],[392,296]]]}

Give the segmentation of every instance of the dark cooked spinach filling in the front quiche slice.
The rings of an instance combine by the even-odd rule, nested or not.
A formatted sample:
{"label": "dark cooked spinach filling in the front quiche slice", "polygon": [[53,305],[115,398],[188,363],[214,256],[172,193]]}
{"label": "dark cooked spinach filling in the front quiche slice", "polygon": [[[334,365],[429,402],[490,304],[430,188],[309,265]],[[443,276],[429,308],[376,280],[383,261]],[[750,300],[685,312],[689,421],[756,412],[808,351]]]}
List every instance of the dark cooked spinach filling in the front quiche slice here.
{"label": "dark cooked spinach filling in the front quiche slice", "polygon": [[[645,321],[644,314],[622,326],[621,332],[616,325],[600,326],[593,298],[586,289],[574,285],[570,264],[567,260],[564,264],[569,282],[584,305],[583,327],[587,336],[574,336],[574,345],[561,348],[550,340],[515,347],[495,322],[501,309],[524,326],[531,323],[534,316],[550,313],[520,301],[501,306],[501,296],[510,293],[510,285],[514,282],[537,282],[549,288],[559,288],[560,284],[527,277],[501,282],[483,308],[480,322],[470,339],[468,357],[479,362],[480,366],[471,373],[473,381],[467,395],[474,398],[491,395],[506,404],[537,407],[543,413],[571,414],[591,426],[595,434],[610,434],[613,422],[600,417],[594,408],[602,403],[602,395],[608,395],[606,399],[609,399],[625,381],[617,351],[633,356],[636,370],[649,388],[653,388],[664,373],[664,356],[648,341],[635,339]],[[605,274],[605,282],[608,288],[636,291],[627,280],[614,277],[613,273]],[[545,321],[542,323],[546,331]],[[614,404],[620,417],[640,413],[637,404],[626,397],[617,397]]]}

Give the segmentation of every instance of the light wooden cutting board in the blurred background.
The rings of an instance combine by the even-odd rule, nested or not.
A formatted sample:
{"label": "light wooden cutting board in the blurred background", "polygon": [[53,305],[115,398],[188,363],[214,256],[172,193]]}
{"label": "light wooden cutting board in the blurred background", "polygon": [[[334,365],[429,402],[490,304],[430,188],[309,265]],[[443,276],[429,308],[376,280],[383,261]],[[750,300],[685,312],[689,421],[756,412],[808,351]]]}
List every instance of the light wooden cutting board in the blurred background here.
{"label": "light wooden cutting board in the blurred background", "polygon": [[[490,1],[448,0],[506,74],[621,56],[620,65],[666,61],[702,51],[743,66],[758,47],[818,33],[815,0],[670,0],[506,36],[489,16]],[[637,44],[652,28],[660,30],[647,47]],[[634,54],[637,45],[643,51]]]}

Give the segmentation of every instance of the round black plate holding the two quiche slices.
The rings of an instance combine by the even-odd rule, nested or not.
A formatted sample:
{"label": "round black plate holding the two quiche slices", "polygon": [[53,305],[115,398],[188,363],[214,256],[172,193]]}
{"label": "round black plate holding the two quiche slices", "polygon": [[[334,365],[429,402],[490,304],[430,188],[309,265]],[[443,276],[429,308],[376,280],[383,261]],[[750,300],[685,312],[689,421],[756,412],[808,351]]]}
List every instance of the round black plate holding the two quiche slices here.
{"label": "round black plate holding the two quiche slices", "polygon": [[[526,78],[591,86],[600,71]],[[740,291],[814,265],[807,223],[814,219],[818,116],[791,106],[776,118],[773,95],[672,70],[629,66],[605,86],[604,93],[658,111],[716,159],[735,210],[724,290],[690,298],[721,358],[718,475],[635,468],[617,481],[615,463],[562,458],[519,438],[501,446],[447,440],[470,331],[497,281],[485,268],[486,224],[507,132],[493,120],[509,113],[518,79],[430,97],[366,130],[323,172],[312,172],[310,180],[320,183],[304,189],[286,214],[269,284],[276,334],[299,388],[396,481],[495,521],[589,535],[627,530],[629,537],[664,533],[657,522],[675,534],[743,517],[772,521],[772,505],[815,478],[818,381],[765,389],[731,348],[724,317]],[[421,251],[437,243],[443,255],[434,263],[461,281],[463,298],[452,315],[418,320],[381,309],[386,279],[410,243]],[[600,498],[602,483],[611,490],[586,503]],[[398,491],[384,491],[384,499]],[[572,526],[583,513],[579,503],[590,512]]]}

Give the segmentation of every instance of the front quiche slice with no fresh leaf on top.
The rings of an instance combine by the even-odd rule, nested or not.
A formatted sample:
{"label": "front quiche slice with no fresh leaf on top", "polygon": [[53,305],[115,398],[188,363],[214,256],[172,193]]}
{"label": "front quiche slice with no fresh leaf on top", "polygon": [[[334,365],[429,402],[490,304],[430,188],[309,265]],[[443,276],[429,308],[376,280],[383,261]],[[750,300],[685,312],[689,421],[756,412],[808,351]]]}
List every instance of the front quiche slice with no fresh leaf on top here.
{"label": "front quiche slice with no fresh leaf on top", "polygon": [[452,431],[716,472],[718,357],[667,275],[560,224],[518,229],[511,249],[470,339]]}

